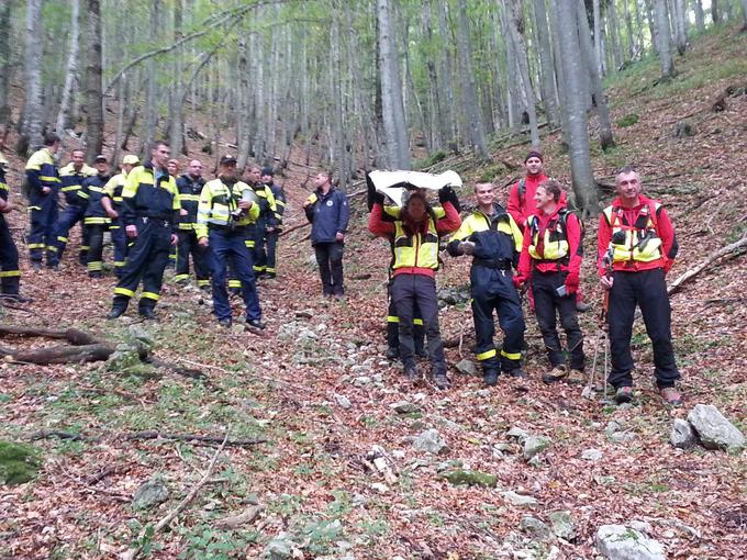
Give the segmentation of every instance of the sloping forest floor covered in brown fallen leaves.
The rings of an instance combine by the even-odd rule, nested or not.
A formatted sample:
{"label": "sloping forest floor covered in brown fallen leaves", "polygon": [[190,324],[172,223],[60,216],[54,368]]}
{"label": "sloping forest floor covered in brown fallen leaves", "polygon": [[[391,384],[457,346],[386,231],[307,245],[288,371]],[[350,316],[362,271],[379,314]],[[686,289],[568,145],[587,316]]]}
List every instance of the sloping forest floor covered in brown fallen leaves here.
{"label": "sloping forest floor covered in brown fallen leaves", "polygon": [[[646,192],[670,209],[680,243],[670,282],[747,232],[747,35],[712,33],[676,63],[680,74],[670,83],[655,85],[657,61],[647,60],[610,85],[617,147],[606,154],[594,148],[593,163],[598,179],[609,184],[618,166],[636,164]],[[712,111],[729,87],[724,110]],[[674,135],[683,120],[693,136]],[[543,142],[548,175],[568,184],[558,134]],[[525,150],[495,145],[490,164],[443,165],[458,164],[467,182],[488,177],[503,184],[519,177],[512,166]],[[291,165],[278,178],[290,199],[287,227],[303,221],[306,191],[300,184],[308,172]],[[201,293],[177,287],[170,275],[159,322],[140,323],[134,310],[105,322],[113,277],[89,280],[73,261],[75,246],[60,272],[33,272],[23,261],[22,289],[34,303],[0,310],[2,323],[76,327],[113,343],[131,338],[135,325],[138,336],[152,338],[158,358],[205,378],[150,367],[111,371],[101,362],[0,365],[1,440],[27,441],[40,430],[83,436],[33,441],[42,458],[38,477],[0,486],[0,558],[113,558],[138,536],[144,557],[163,559],[256,558],[268,547],[277,558],[283,547],[294,558],[594,558],[597,528],[631,520],[647,523],[670,558],[743,556],[745,455],[674,449],[669,432],[673,418],[696,403],[714,404],[747,430],[744,254],[709,267],[672,296],[681,408],[658,397],[640,322],[632,406],[584,399],[581,382],[544,385],[542,339],[529,315],[527,380],[501,379],[487,390],[479,377],[451,367],[453,388],[439,392],[428,383],[405,384],[399,366],[383,357],[389,253],[366,229],[363,197],[353,200],[347,299],[322,299],[303,237],[308,228],[299,228],[281,239],[278,280],[259,284],[268,324],[261,335],[238,325],[219,328]],[[582,283],[593,311],[582,322],[590,358],[601,305],[591,257],[595,229],[589,220]],[[464,284],[467,271],[468,262],[447,260],[439,285]],[[243,304],[234,304],[241,314]],[[446,307],[442,333],[456,341],[447,348],[450,366],[471,358],[467,307]],[[403,401],[411,406],[397,412],[392,406]],[[205,474],[228,426],[231,439],[267,441],[226,446],[170,528],[144,530]],[[521,445],[506,435],[512,427],[549,438],[549,448],[527,464]],[[447,446],[439,455],[413,447],[427,428]],[[218,443],[127,438],[142,430],[209,435]],[[582,459],[590,449],[601,459]],[[494,486],[453,485],[442,475],[456,467],[494,474]],[[134,509],[133,493],[154,478],[169,489],[167,500]],[[256,504],[261,509],[245,524],[221,522]],[[575,525],[565,539],[520,528],[524,516],[549,523],[549,514],[561,511]]]}

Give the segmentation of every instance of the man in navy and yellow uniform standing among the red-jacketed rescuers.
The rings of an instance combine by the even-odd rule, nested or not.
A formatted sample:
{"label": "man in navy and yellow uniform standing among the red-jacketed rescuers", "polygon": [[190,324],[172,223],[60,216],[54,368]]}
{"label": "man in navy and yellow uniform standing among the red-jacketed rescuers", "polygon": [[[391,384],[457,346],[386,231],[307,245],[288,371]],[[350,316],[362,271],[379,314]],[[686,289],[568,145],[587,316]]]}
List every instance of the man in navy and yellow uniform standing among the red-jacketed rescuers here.
{"label": "man in navy and yellow uniform standing among the red-jacketed rescuers", "polygon": [[[495,202],[491,183],[477,183],[475,197],[477,209],[454,234],[447,250],[453,257],[472,256],[469,280],[475,352],[482,365],[486,384],[494,385],[501,371],[514,378],[525,377],[521,369],[524,314],[511,271],[519,264],[523,236],[511,214]],[[500,352],[493,344],[493,311],[503,331]]]}

